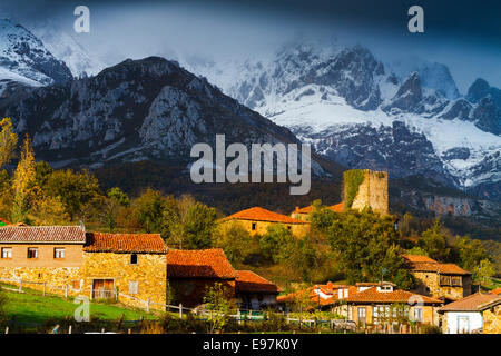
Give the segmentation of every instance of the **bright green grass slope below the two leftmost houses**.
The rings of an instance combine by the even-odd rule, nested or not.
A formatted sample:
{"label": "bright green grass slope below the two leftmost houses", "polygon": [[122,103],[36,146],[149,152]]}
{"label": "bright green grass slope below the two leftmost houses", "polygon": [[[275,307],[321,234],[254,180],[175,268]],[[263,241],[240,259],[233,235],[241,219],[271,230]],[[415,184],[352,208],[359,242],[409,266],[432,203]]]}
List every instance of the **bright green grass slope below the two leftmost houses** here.
{"label": "bright green grass slope below the two leftmost houses", "polygon": [[[2,289],[7,298],[4,312],[9,320],[13,318],[18,323],[43,324],[48,319],[72,318],[79,305],[73,304],[72,298],[65,299],[57,296],[42,296],[39,291],[26,289],[17,293]],[[134,310],[120,305],[90,304],[90,319],[118,320],[124,315],[124,320],[138,320],[156,318],[154,314]]]}

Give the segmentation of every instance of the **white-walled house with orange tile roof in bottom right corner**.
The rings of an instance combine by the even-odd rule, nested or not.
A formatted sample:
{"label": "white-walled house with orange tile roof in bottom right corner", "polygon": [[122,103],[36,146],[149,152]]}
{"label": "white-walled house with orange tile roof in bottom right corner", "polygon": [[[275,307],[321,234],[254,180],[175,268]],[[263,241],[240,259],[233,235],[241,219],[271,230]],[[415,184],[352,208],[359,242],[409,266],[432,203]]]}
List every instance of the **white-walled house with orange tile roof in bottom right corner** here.
{"label": "white-walled house with orange tile roof in bottom right corner", "polygon": [[489,293],[477,293],[450,303],[439,310],[443,315],[442,330],[445,334],[482,333],[484,310],[498,303],[501,304],[501,296]]}

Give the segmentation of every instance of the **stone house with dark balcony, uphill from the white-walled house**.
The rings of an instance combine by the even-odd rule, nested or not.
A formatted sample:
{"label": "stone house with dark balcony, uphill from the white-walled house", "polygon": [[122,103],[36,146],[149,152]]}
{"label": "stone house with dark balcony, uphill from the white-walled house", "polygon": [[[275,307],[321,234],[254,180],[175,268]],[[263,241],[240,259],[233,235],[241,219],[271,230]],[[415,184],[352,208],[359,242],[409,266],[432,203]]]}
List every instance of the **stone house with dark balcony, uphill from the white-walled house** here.
{"label": "stone house with dark balcony, uphill from the white-walled house", "polygon": [[454,264],[441,264],[426,256],[403,255],[418,281],[415,293],[446,300],[471,294],[471,273]]}

